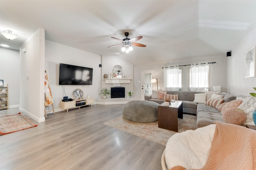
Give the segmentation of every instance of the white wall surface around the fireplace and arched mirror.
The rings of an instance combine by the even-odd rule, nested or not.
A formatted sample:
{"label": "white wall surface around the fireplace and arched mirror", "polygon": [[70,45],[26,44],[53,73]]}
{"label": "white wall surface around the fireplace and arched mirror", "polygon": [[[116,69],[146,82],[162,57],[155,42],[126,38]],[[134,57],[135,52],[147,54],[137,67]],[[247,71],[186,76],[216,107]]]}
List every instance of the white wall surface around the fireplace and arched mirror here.
{"label": "white wall surface around the fireplace and arched mirror", "polygon": [[[103,78],[104,74],[112,74],[113,67],[115,65],[120,65],[122,66],[123,69],[123,76],[127,76],[128,78],[133,79],[133,65],[130,63],[127,63],[126,61],[123,61],[117,57],[114,56],[102,56],[102,85],[101,88],[99,86],[99,90],[102,88],[107,88],[108,90],[111,89],[111,87],[115,86],[122,86],[125,88],[125,98],[128,98],[128,93],[127,92],[133,92],[133,84],[134,81],[132,80],[130,84],[106,84],[105,80]],[[101,97],[101,96],[100,96]],[[107,98],[110,98],[107,96]]]}

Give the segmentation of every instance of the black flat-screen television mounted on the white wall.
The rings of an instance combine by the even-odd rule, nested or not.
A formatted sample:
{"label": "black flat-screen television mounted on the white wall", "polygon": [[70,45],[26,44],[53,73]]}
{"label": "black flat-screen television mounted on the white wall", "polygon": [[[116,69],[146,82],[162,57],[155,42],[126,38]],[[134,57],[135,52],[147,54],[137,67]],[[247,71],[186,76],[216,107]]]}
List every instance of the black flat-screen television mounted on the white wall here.
{"label": "black flat-screen television mounted on the white wall", "polygon": [[92,85],[92,68],[60,63],[59,85]]}

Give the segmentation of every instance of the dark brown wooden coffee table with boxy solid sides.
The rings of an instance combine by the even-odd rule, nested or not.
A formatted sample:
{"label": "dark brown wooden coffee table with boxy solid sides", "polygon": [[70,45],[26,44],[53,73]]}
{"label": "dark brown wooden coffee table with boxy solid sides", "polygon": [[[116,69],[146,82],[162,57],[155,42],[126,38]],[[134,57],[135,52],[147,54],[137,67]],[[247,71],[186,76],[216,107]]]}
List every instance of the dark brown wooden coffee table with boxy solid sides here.
{"label": "dark brown wooden coffee table with boxy solid sides", "polygon": [[169,106],[158,106],[158,127],[178,132],[178,118],[183,119],[183,103],[176,100]]}

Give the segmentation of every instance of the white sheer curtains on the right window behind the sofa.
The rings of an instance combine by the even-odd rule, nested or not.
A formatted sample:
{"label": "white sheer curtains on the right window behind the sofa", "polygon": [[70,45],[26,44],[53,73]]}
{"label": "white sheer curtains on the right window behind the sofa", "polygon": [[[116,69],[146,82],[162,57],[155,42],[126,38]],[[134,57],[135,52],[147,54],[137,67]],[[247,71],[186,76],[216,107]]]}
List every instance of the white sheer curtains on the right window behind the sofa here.
{"label": "white sheer curtains on the right window behind the sofa", "polygon": [[190,68],[190,91],[206,92],[209,88],[209,65],[192,65]]}

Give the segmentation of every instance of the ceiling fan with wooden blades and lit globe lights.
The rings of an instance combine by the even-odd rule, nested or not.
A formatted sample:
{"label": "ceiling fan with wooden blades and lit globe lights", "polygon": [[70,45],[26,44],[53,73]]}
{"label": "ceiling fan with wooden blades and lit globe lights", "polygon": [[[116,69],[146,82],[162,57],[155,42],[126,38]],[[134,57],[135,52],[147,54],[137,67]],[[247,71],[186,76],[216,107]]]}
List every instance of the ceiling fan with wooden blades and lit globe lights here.
{"label": "ceiling fan with wooden blades and lit globe lights", "polygon": [[132,51],[132,45],[133,46],[137,46],[137,47],[146,47],[146,45],[143,45],[143,44],[140,44],[140,43],[134,43],[134,41],[138,41],[140,39],[142,39],[142,36],[138,36],[138,37],[134,37],[132,39],[128,38],[128,35],[129,33],[128,32],[125,32],[124,35],[126,36],[126,38],[124,39],[118,39],[118,38],[115,38],[115,37],[111,37],[113,39],[116,39],[118,41],[121,41],[122,43],[120,44],[116,44],[116,45],[112,45],[112,46],[109,46],[109,47],[115,47],[117,45],[122,45],[122,51],[126,52],[126,53],[129,53],[129,51]]}

